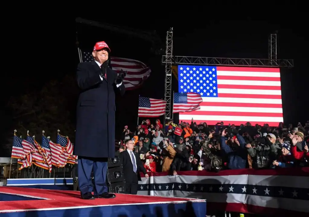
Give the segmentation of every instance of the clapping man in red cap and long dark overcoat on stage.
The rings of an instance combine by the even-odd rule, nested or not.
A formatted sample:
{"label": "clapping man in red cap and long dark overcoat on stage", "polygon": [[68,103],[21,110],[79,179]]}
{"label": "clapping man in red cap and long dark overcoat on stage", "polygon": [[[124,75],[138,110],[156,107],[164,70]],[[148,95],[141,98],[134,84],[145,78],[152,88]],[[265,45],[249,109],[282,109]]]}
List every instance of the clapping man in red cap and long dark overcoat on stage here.
{"label": "clapping man in red cap and long dark overcoat on stage", "polygon": [[122,82],[125,73],[117,75],[108,67],[110,51],[104,41],[97,42],[92,51],[93,60],[79,63],[76,72],[81,93],[77,103],[74,154],[78,155],[82,199],[116,197],[108,193],[106,173],[108,158],[115,157],[115,95],[125,93]]}

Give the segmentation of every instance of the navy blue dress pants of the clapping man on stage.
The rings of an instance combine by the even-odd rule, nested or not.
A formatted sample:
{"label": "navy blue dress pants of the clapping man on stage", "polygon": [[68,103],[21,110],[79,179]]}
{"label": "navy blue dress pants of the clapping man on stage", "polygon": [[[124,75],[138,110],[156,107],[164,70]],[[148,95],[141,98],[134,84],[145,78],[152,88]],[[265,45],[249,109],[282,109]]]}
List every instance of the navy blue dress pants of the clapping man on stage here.
{"label": "navy blue dress pants of the clapping man on stage", "polygon": [[[93,191],[94,195],[100,195],[108,192],[106,184],[107,161],[108,158],[78,156],[78,186],[81,194]],[[91,182],[92,171],[95,186]]]}

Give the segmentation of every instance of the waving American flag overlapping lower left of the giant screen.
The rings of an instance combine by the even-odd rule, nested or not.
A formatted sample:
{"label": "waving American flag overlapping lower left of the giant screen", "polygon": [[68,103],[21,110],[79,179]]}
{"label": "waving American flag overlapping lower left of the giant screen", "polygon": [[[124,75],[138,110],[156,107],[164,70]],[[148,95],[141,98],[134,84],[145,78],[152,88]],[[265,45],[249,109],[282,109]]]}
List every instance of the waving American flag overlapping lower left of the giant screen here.
{"label": "waving American flag overlapping lower left of the giant screen", "polygon": [[174,93],[173,113],[198,110],[202,101],[199,93]]}

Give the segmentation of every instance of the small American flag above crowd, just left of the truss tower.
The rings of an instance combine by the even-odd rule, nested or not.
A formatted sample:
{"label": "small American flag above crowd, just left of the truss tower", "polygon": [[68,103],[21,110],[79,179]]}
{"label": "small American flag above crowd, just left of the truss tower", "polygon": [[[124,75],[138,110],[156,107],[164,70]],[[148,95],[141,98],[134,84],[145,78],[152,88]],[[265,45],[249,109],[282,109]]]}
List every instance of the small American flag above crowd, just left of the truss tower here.
{"label": "small American flag above crowd, just left of the truss tower", "polygon": [[165,114],[166,102],[148,97],[139,97],[138,117],[159,117]]}

